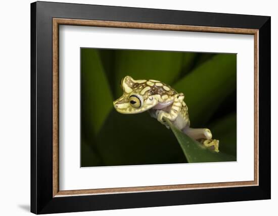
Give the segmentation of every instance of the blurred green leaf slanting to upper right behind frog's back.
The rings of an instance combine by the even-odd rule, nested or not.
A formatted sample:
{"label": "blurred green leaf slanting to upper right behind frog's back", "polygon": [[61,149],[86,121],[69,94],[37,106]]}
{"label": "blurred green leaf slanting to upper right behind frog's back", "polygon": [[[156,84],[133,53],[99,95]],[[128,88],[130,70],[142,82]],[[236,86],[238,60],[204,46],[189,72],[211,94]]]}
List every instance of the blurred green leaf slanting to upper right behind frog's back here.
{"label": "blurred green leaf slanting to upper right behind frog's back", "polygon": [[173,88],[184,93],[191,123],[200,127],[236,86],[237,56],[218,54],[179,80]]}

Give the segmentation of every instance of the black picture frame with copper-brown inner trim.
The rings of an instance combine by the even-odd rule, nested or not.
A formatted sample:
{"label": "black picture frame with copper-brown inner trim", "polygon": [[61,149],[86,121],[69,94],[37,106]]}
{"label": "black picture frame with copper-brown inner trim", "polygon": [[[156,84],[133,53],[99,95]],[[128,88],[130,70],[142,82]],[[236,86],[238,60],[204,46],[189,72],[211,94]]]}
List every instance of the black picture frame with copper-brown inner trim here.
{"label": "black picture frame with copper-brown inner trim", "polygon": [[[254,180],[59,189],[59,26],[254,35]],[[31,4],[31,212],[270,199],[270,17],[97,5]],[[79,143],[77,143],[79,145]]]}

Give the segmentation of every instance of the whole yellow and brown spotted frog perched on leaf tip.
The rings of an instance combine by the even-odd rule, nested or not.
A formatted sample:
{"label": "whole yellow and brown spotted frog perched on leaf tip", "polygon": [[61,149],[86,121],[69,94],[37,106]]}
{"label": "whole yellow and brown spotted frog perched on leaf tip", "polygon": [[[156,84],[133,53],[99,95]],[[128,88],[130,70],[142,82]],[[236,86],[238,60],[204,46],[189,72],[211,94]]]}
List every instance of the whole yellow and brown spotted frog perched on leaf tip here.
{"label": "whole yellow and brown spotted frog perched on leaf tip", "polygon": [[169,129],[168,119],[177,129],[199,141],[206,147],[219,152],[219,140],[212,139],[208,128],[191,128],[189,111],[184,94],[158,80],[134,80],[131,76],[121,79],[121,97],[113,101],[115,110],[121,114],[139,114],[148,111]]}

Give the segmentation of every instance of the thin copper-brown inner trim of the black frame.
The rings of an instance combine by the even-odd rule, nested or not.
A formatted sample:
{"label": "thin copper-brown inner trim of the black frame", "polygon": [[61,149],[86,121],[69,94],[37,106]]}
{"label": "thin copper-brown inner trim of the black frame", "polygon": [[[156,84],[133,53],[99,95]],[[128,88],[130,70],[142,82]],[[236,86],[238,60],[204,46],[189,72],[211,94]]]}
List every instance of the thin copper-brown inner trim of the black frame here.
{"label": "thin copper-brown inner trim of the black frame", "polygon": [[[87,190],[59,190],[59,25],[110,27],[110,28],[135,28],[152,30],[170,31],[194,31],[230,34],[250,34],[254,35],[254,181],[241,182],[219,182],[204,184],[181,184],[181,185],[160,185],[142,187],[123,187],[123,188],[103,188]],[[153,23],[135,22],[115,22],[99,20],[78,20],[53,18],[53,197],[73,196],[73,195],[97,195],[111,193],[131,193],[131,192],[150,192],[150,191],[171,191],[187,189],[223,188],[239,186],[257,186],[259,182],[259,83],[258,83],[258,29],[241,28],[222,28],[206,26],[187,26]]]}

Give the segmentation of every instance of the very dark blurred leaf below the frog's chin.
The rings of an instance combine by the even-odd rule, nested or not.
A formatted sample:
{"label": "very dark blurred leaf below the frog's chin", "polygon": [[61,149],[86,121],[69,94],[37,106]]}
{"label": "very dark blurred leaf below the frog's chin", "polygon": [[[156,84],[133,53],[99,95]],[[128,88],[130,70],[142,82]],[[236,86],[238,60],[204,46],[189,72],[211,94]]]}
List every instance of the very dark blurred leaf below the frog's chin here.
{"label": "very dark blurred leaf below the frog's chin", "polygon": [[103,166],[186,163],[174,140],[173,133],[148,112],[119,115],[113,109],[95,144]]}

